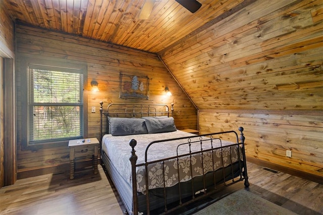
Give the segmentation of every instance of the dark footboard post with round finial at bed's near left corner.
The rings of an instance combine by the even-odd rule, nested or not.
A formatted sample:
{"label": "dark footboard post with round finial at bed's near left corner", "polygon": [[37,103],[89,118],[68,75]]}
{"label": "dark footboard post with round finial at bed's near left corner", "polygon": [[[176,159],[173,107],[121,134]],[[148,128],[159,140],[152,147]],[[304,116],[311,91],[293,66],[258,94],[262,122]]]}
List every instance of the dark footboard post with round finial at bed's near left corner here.
{"label": "dark footboard post with round finial at bed's near left corner", "polygon": [[137,141],[134,139],[131,139],[129,141],[129,145],[131,146],[131,156],[129,158],[131,162],[131,176],[132,176],[132,204],[133,204],[133,214],[137,215],[138,214],[138,199],[137,199],[137,174],[136,174],[136,163],[137,163],[137,155],[136,155],[136,150],[135,146],[137,145]]}

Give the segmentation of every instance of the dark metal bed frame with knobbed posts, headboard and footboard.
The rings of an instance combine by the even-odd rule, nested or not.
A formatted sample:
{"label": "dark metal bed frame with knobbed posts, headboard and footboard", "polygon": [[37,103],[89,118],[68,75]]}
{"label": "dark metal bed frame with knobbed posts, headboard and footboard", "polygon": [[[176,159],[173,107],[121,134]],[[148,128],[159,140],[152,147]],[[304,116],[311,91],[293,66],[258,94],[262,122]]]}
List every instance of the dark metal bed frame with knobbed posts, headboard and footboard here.
{"label": "dark metal bed frame with knobbed posts, headboard and footboard", "polygon": [[[122,106],[124,109],[124,111],[121,111],[119,108],[117,108],[116,110],[113,110],[113,107],[116,106]],[[164,111],[164,110],[165,111]],[[105,116],[105,118],[107,118],[107,116],[116,116],[116,117],[143,117],[143,116],[158,116],[158,115],[166,115],[166,116],[173,116],[174,113],[174,104],[171,104],[171,111],[169,110],[169,107],[165,104],[110,104],[107,107],[107,112],[103,112],[103,102],[100,102],[100,136],[101,136],[101,140],[102,141],[102,137],[103,137],[103,116]],[[106,131],[109,131],[109,123],[106,120]],[[207,152],[211,152],[213,153],[213,151],[215,150],[222,150],[225,147],[237,147],[238,148],[238,155],[240,155],[239,150],[241,150],[241,154],[242,154],[242,158],[240,158],[239,156],[239,161],[237,163],[233,163],[232,159],[231,159],[231,167],[223,167],[220,170],[214,170],[214,165],[213,165],[213,172],[208,173],[208,174],[204,174],[203,176],[201,176],[198,180],[200,182],[199,188],[200,189],[202,187],[202,189],[200,189],[202,192],[202,194],[200,195],[196,195],[196,193],[194,192],[194,189],[196,186],[193,183],[193,180],[191,183],[186,183],[183,184],[178,183],[179,184],[179,188],[178,189],[178,204],[176,206],[172,206],[171,208],[169,208],[169,199],[167,198],[167,189],[166,186],[164,185],[164,188],[162,189],[163,191],[161,191],[164,195],[164,211],[161,212],[161,214],[168,214],[171,213],[173,211],[175,211],[176,209],[183,207],[185,205],[188,205],[190,203],[192,203],[193,201],[197,201],[201,198],[204,198],[206,196],[209,196],[213,193],[216,192],[216,188],[220,183],[223,183],[224,186],[230,186],[233,185],[237,182],[243,181],[244,180],[244,185],[245,187],[249,187],[249,182],[248,182],[248,175],[247,175],[247,165],[246,165],[246,156],[245,156],[245,150],[244,150],[244,134],[243,134],[243,127],[239,127],[239,131],[240,131],[240,136],[238,137],[238,134],[235,131],[227,131],[227,132],[220,132],[220,133],[211,133],[211,134],[206,134],[206,135],[194,135],[194,136],[188,136],[188,137],[183,137],[183,138],[176,138],[176,139],[168,139],[168,140],[158,140],[158,141],[153,141],[151,142],[145,151],[145,162],[143,163],[137,163],[137,155],[136,155],[136,151],[135,151],[135,146],[137,145],[137,141],[132,139],[129,140],[129,145],[131,147],[131,152],[130,152],[130,165],[131,165],[131,171],[132,171],[132,207],[131,205],[129,205],[129,203],[127,204],[126,201],[124,200],[124,197],[122,196],[122,192],[120,192],[120,189],[123,189],[121,187],[118,187],[118,185],[114,182],[118,193],[120,194],[121,199],[123,200],[123,203],[126,206],[127,212],[129,214],[138,214],[139,211],[139,206],[138,206],[138,193],[137,193],[137,177],[136,177],[136,168],[139,166],[145,166],[145,179],[146,179],[146,187],[148,187],[148,171],[147,171],[147,166],[151,163],[156,163],[156,162],[165,162],[168,159],[179,159],[180,157],[183,156],[192,156],[194,154],[201,154],[201,159],[202,159],[202,165],[203,165],[203,153],[207,153]],[[208,140],[220,140],[219,136],[224,135],[224,134],[232,134],[236,137],[236,143],[233,143],[232,145],[229,146],[222,146],[221,147],[217,147],[217,148],[213,148],[213,146],[211,147],[211,149],[202,149],[202,145],[204,141],[208,141]],[[148,154],[148,149],[151,145],[154,144],[158,144],[161,142],[165,142],[165,141],[174,141],[174,140],[183,140],[183,144],[191,144],[191,139],[192,138],[199,138],[199,144],[201,145],[201,150],[199,151],[195,151],[195,152],[189,152],[187,154],[184,155],[177,155],[175,157],[169,157],[169,158],[165,158],[165,159],[161,159],[161,160],[154,160],[154,161],[147,161],[147,154]],[[239,142],[240,139],[240,142]],[[140,141],[140,140],[138,140]],[[179,144],[179,145],[183,145],[183,144]],[[102,147],[101,147],[102,148]],[[103,151],[101,151],[101,161],[102,161],[102,165],[106,166],[109,165],[106,161],[107,157],[104,154]],[[223,158],[222,158],[223,159]],[[213,161],[214,164],[214,161]],[[192,166],[192,165],[190,165]],[[225,170],[225,168],[227,168]],[[229,170],[228,170],[229,168]],[[230,169],[231,168],[231,169]],[[233,169],[238,169],[235,171]],[[179,168],[178,168],[179,169]],[[202,167],[203,169],[203,167]],[[163,174],[164,174],[164,169],[163,169]],[[231,171],[231,173],[227,173],[227,171]],[[191,171],[192,174],[192,171]],[[222,175],[222,176],[220,176]],[[164,174],[165,177],[165,174]],[[218,180],[218,178],[221,178],[220,182]],[[193,178],[193,177],[191,177]],[[217,178],[217,179],[216,179]],[[195,178],[194,178],[195,179]],[[183,185],[182,185],[183,184]],[[183,199],[186,199],[187,194],[182,194],[182,190],[181,186],[188,186],[191,187],[191,199],[190,200],[186,200],[185,202],[183,202]],[[201,186],[201,187],[200,187]],[[211,189],[210,189],[211,188]],[[149,189],[146,189],[146,210],[145,212],[147,214],[150,214],[150,195]]]}

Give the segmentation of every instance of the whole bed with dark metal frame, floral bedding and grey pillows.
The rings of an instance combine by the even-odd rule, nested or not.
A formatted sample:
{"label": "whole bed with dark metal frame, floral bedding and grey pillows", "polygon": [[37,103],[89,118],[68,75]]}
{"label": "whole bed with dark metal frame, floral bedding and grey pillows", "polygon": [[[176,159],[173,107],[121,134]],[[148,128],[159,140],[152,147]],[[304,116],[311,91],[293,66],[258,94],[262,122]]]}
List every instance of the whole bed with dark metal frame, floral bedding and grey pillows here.
{"label": "whole bed with dark metal frame, floral bedding and grey pillows", "polygon": [[[249,186],[243,128],[193,135],[177,130],[174,104],[100,102],[101,164],[129,214],[167,214],[216,192]],[[227,139],[226,139],[227,138]]]}

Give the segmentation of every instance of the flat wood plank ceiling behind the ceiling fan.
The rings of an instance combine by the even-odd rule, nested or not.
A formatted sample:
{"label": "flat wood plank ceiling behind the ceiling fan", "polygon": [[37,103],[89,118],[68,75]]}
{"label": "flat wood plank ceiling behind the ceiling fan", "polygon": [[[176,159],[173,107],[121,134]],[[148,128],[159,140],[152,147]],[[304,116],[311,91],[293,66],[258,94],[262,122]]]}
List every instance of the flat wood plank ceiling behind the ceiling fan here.
{"label": "flat wood plank ceiling behind the ceiling fan", "polygon": [[[145,0],[4,0],[12,18],[28,25],[80,35],[158,53],[243,0],[199,0],[194,14],[175,0],[153,0],[148,19],[140,20]],[[225,18],[225,17],[222,17]]]}

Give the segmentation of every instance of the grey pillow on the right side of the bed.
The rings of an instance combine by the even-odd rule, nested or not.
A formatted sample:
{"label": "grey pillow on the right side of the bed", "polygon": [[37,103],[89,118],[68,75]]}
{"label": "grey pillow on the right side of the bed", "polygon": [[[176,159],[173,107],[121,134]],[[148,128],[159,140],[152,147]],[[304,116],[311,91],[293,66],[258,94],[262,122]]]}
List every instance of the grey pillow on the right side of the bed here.
{"label": "grey pillow on the right side of the bed", "polygon": [[173,117],[142,117],[146,121],[149,134],[175,132],[176,126]]}

